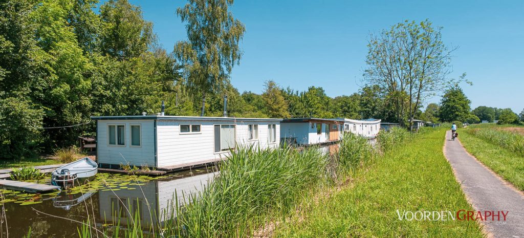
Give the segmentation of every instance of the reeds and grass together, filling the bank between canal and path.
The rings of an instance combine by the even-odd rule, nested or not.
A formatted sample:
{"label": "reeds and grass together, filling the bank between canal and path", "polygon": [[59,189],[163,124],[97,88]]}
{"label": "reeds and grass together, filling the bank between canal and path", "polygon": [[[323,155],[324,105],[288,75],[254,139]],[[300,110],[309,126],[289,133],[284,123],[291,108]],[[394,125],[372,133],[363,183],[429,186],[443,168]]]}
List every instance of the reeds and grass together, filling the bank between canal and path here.
{"label": "reeds and grass together, filling the bank between canal and path", "polygon": [[95,230],[84,221],[79,237],[483,237],[475,222],[396,217],[395,209],[471,209],[443,156],[443,132],[393,129],[379,134],[377,146],[346,134],[331,155],[315,147],[239,148],[203,191],[171,201],[162,225],[126,219]]}

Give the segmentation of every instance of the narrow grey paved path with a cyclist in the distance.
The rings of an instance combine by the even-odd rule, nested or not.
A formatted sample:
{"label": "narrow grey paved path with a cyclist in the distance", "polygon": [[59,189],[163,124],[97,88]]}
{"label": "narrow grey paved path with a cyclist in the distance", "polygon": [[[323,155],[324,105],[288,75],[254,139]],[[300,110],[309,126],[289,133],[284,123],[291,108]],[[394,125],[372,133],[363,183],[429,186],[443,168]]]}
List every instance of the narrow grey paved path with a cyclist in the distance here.
{"label": "narrow grey paved path with a cyclist in the distance", "polygon": [[[446,132],[444,154],[476,211],[509,211],[506,221],[484,221],[485,230],[493,237],[524,238],[522,193],[468,154],[458,139],[451,140],[451,131]],[[502,218],[500,215],[501,220]]]}

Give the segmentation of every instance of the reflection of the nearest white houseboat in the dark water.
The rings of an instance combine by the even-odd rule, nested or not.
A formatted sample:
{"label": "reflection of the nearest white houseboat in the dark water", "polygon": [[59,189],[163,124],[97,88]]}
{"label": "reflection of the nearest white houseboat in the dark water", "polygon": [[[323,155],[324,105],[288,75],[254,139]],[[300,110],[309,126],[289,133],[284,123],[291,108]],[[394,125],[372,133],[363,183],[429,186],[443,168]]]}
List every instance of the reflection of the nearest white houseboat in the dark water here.
{"label": "reflection of the nearest white houseboat in the dark water", "polygon": [[[174,180],[156,180],[134,187],[116,191],[99,191],[100,219],[114,221],[127,219],[138,213],[140,224],[149,226],[170,218],[175,193],[179,203],[188,201],[190,193],[197,193],[211,182],[214,173],[195,175]],[[176,214],[175,214],[176,215]],[[121,224],[126,221],[121,220]]]}

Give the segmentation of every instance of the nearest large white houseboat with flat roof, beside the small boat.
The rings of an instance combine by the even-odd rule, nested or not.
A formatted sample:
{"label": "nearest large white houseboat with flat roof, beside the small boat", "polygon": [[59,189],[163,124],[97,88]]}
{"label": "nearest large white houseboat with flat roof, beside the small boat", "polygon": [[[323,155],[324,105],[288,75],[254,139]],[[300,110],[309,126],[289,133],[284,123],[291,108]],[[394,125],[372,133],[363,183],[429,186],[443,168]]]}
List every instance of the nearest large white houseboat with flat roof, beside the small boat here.
{"label": "nearest large white houseboat with flat roof, beside the small boat", "polygon": [[198,116],[93,116],[99,167],[174,170],[224,159],[237,146],[275,148],[281,119]]}

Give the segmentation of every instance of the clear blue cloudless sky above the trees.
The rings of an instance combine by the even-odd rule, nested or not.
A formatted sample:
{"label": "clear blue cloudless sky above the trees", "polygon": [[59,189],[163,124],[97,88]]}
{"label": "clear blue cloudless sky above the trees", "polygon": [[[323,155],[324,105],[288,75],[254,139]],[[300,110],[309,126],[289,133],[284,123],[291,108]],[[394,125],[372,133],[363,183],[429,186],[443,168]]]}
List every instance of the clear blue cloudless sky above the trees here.
{"label": "clear blue cloudless sky above the trees", "polygon": [[[141,6],[168,51],[186,39],[175,13],[186,1],[130,2]],[[271,79],[297,90],[322,86],[332,97],[352,94],[360,88],[369,33],[429,18],[444,27],[446,45],[460,47],[450,77],[467,73],[473,86],[462,88],[472,109],[524,109],[524,1],[237,0],[232,11],[246,26],[244,56],[231,75],[241,93],[260,93]]]}

